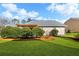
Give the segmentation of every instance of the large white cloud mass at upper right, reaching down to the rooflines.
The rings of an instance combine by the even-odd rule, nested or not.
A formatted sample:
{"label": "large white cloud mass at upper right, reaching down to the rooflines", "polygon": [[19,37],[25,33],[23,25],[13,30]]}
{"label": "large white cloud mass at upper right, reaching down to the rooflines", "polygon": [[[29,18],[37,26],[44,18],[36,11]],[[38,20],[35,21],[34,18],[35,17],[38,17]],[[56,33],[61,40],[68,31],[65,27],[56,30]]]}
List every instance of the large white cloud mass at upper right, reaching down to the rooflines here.
{"label": "large white cloud mass at upper right, reaching down to the rooflines", "polygon": [[52,13],[55,11],[62,15],[64,17],[63,19],[56,19],[57,21],[64,23],[66,20],[68,20],[71,17],[77,17],[79,18],[79,4],[78,3],[54,3],[50,4],[47,7],[48,11],[51,11]]}

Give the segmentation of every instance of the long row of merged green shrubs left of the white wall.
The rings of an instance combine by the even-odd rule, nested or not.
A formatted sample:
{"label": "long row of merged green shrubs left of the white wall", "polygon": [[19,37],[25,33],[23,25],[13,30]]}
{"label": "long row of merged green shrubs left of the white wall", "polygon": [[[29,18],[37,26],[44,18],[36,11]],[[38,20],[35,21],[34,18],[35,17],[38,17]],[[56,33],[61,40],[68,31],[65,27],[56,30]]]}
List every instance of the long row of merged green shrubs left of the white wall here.
{"label": "long row of merged green shrubs left of the white wall", "polygon": [[40,37],[44,31],[39,27],[34,27],[32,30],[29,27],[19,28],[6,26],[1,30],[1,37],[3,38],[28,38]]}

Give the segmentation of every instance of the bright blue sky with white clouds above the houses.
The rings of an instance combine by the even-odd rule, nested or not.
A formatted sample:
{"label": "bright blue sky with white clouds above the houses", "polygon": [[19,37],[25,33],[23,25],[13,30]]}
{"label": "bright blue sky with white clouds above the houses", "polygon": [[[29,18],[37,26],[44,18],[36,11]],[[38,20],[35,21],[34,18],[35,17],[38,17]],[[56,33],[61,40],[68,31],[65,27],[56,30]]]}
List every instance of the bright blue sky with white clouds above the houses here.
{"label": "bright blue sky with white clouds above the houses", "polygon": [[56,20],[64,23],[79,17],[78,3],[1,3],[0,16],[9,19]]}

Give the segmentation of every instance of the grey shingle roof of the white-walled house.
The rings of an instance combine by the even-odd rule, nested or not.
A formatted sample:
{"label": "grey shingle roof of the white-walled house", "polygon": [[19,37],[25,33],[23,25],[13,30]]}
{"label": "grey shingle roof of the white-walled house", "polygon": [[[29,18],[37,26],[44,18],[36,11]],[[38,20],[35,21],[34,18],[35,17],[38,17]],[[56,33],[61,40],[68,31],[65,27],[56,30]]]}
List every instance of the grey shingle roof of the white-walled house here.
{"label": "grey shingle roof of the white-walled house", "polygon": [[36,20],[36,21],[30,21],[27,24],[37,24],[38,26],[58,26],[58,27],[64,26],[64,24],[55,20]]}

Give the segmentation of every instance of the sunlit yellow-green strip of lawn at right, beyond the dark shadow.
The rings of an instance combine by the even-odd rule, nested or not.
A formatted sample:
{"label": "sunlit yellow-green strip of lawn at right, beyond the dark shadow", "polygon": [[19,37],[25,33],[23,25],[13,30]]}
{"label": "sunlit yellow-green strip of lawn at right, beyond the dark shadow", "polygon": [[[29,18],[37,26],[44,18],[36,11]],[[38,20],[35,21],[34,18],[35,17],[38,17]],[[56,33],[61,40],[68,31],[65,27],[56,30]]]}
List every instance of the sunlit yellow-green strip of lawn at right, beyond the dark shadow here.
{"label": "sunlit yellow-green strip of lawn at right, beyond the dark shadow", "polygon": [[78,48],[79,49],[79,42],[69,39],[69,38],[61,38],[61,37],[56,37],[54,41],[50,41],[55,44],[63,45],[66,47],[71,47],[71,48]]}

